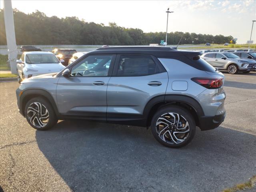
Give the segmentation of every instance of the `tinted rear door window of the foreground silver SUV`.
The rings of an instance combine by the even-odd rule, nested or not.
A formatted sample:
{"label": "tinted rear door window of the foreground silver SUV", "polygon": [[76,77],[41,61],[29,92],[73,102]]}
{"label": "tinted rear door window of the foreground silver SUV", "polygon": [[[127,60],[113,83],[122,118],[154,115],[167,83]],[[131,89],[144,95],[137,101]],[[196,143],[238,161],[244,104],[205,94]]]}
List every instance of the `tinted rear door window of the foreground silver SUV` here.
{"label": "tinted rear door window of the foreground silver SUV", "polygon": [[122,55],[118,65],[118,76],[145,76],[160,72],[151,56]]}

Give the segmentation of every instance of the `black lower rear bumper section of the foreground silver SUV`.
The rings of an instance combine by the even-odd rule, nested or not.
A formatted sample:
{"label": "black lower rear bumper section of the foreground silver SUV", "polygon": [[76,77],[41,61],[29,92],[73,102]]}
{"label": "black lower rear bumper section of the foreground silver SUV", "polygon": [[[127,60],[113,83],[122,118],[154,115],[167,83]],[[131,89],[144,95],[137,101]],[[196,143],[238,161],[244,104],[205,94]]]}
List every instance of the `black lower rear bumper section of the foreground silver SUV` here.
{"label": "black lower rear bumper section of the foreground silver SUV", "polygon": [[226,112],[216,116],[202,116],[199,118],[200,129],[202,131],[217,128],[225,119]]}

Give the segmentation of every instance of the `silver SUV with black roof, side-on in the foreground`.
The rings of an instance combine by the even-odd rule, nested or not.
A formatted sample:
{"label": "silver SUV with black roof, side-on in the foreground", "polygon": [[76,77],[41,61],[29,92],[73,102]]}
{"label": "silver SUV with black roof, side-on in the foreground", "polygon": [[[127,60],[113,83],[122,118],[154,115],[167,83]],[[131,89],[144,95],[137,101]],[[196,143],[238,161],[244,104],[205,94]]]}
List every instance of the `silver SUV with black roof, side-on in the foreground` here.
{"label": "silver SUV with black roof, side-on in the foreground", "polygon": [[168,47],[106,47],[58,74],[35,76],[16,90],[18,108],[37,130],[82,118],[151,127],[168,147],[218,127],[226,112],[224,75],[200,52]]}

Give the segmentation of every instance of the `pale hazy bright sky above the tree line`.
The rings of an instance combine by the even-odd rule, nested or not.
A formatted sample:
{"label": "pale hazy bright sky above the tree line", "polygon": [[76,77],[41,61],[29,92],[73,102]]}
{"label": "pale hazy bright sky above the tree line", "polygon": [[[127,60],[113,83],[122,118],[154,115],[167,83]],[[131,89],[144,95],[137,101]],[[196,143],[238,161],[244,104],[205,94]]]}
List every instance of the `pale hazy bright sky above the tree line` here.
{"label": "pale hazy bright sky above the tree line", "polygon": [[[86,22],[116,22],[144,32],[165,32],[167,8],[168,32],[232,35],[237,43],[250,40],[252,20],[256,20],[256,0],[184,0],[184,1],[82,1],[82,0],[12,0],[12,7],[24,13],[35,10],[46,16],[76,16]],[[3,8],[3,0],[0,0]],[[256,43],[256,22],[252,32]]]}

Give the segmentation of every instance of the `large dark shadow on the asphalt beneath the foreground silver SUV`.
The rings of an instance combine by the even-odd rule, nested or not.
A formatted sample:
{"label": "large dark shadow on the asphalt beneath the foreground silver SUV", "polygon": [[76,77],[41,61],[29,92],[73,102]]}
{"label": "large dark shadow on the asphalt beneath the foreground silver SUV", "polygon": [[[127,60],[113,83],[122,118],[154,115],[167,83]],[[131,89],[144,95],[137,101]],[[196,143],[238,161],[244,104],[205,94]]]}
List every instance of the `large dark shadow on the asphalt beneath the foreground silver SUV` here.
{"label": "large dark shadow on the asphalt beneath the foreground silver SUV", "polygon": [[39,149],[73,191],[220,191],[256,173],[256,136],[218,127],[183,148],[146,128],[64,120],[36,131]]}

